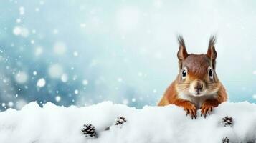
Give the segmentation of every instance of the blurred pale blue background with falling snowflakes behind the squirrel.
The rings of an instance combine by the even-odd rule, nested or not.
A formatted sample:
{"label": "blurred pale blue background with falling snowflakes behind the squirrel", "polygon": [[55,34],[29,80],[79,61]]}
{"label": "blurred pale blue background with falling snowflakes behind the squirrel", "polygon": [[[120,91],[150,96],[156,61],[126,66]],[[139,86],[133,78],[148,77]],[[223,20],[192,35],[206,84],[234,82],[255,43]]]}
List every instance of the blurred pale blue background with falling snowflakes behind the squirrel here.
{"label": "blurred pale blue background with falling snowflakes behind the squirrel", "polygon": [[256,102],[256,1],[4,0],[0,110],[156,105],[178,74],[176,35],[206,53],[217,34],[217,74],[230,102]]}

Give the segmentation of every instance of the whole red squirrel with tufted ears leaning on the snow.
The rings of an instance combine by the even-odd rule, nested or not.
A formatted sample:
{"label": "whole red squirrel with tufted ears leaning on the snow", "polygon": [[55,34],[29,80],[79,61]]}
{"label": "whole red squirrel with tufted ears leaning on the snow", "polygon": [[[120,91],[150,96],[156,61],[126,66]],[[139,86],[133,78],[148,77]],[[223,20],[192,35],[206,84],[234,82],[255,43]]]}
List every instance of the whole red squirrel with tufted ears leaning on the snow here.
{"label": "whole red squirrel with tufted ears leaning on the snow", "polygon": [[197,109],[201,116],[210,115],[214,107],[227,101],[227,92],[219,81],[216,68],[216,36],[211,36],[207,54],[188,54],[182,36],[178,36],[179,74],[166,89],[158,106],[175,104],[183,107],[186,115],[196,119]]}

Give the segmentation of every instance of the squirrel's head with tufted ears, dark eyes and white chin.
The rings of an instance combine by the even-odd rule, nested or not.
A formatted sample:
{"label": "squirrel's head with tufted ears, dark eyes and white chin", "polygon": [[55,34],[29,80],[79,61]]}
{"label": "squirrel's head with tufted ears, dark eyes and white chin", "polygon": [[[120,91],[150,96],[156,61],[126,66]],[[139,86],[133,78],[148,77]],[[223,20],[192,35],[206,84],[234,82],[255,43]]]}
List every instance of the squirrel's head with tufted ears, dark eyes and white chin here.
{"label": "squirrel's head with tufted ears, dark eyes and white chin", "polygon": [[215,94],[219,89],[219,79],[215,72],[217,52],[214,44],[216,37],[211,36],[207,54],[188,54],[182,36],[178,36],[179,74],[176,89],[179,94],[194,97]]}

